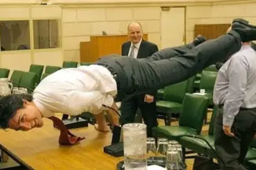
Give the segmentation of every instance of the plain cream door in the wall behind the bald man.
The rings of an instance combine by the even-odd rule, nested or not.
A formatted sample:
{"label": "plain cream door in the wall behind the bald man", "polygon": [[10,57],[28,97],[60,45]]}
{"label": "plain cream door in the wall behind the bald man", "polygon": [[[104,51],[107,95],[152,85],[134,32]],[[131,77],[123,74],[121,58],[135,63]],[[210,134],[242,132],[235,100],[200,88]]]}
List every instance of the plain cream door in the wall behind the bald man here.
{"label": "plain cream door in the wall behind the bald man", "polygon": [[185,44],[185,7],[161,11],[161,48]]}

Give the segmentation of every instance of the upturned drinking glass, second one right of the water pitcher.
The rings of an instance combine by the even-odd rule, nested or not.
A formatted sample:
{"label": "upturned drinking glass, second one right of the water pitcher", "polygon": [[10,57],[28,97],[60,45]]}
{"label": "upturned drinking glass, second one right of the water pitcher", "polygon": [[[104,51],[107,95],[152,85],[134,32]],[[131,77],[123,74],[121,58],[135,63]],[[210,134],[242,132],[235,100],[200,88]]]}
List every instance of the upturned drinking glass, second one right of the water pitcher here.
{"label": "upturned drinking glass, second one right of the water pitcher", "polygon": [[157,149],[156,149],[156,157],[157,157],[157,161],[160,164],[163,164],[163,162],[165,162],[165,160],[166,160],[167,148],[168,148],[167,138],[158,138]]}

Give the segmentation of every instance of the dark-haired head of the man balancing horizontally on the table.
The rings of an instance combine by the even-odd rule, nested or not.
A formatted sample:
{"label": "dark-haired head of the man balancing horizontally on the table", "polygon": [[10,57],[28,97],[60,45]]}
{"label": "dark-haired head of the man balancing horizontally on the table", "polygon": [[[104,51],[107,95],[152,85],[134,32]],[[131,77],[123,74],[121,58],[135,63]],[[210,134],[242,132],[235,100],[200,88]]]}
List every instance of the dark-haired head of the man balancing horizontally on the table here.
{"label": "dark-haired head of the man balancing horizontally on the table", "polygon": [[1,129],[28,131],[43,125],[42,113],[33,103],[31,94],[12,94],[0,99]]}

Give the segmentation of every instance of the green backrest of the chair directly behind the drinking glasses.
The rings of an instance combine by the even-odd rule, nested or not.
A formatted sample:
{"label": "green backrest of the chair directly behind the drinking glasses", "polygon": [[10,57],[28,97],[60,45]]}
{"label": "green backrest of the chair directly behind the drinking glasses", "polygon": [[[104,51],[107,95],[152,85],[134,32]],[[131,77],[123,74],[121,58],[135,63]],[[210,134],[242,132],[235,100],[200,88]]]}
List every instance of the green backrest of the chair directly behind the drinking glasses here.
{"label": "green backrest of the chair directly behind the drinking glasses", "polygon": [[208,99],[199,94],[185,94],[179,125],[190,127],[200,134],[208,109]]}

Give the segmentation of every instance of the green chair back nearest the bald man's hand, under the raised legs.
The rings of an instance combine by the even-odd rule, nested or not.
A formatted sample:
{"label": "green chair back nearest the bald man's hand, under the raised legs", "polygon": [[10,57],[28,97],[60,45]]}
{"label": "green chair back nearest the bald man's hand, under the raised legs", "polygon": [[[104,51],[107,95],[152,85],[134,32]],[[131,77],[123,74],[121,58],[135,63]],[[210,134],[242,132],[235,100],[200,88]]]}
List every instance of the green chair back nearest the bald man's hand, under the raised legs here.
{"label": "green chair back nearest the bald man's hand, under the raised legs", "polygon": [[168,85],[163,89],[163,100],[182,103],[187,90],[188,80]]}

